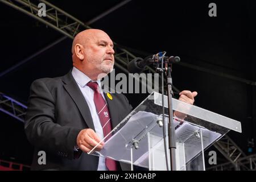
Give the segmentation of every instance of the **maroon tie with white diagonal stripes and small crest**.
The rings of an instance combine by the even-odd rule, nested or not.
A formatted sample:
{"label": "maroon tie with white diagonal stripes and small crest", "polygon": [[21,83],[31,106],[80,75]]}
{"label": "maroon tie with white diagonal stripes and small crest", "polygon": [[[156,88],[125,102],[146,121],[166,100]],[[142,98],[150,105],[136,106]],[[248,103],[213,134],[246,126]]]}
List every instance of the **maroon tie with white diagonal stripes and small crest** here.
{"label": "maroon tie with white diagonal stripes and small crest", "polygon": [[[100,93],[97,82],[88,82],[87,85],[94,90],[93,101],[96,106],[98,116],[100,117],[101,126],[103,128],[103,133],[105,137],[110,133],[110,131],[112,131],[108,105],[106,104],[106,101],[104,100],[104,98]],[[108,135],[108,137],[105,138],[105,142],[111,136],[112,136],[111,134]],[[106,167],[108,167],[109,171],[117,171],[117,162],[115,162],[115,160],[106,158]]]}

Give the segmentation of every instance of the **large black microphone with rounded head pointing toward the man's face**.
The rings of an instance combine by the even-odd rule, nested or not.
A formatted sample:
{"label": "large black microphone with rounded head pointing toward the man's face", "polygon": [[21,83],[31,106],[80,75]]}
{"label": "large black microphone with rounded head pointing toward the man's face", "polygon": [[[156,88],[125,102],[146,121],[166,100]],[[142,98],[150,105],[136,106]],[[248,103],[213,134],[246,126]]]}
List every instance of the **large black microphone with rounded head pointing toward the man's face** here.
{"label": "large black microphone with rounded head pointing toward the man's face", "polygon": [[152,63],[157,63],[159,57],[162,56],[165,52],[159,52],[156,55],[150,55],[142,59],[141,57],[136,57],[135,59],[131,60],[128,64],[128,71],[130,73],[141,73],[145,69],[147,65]]}

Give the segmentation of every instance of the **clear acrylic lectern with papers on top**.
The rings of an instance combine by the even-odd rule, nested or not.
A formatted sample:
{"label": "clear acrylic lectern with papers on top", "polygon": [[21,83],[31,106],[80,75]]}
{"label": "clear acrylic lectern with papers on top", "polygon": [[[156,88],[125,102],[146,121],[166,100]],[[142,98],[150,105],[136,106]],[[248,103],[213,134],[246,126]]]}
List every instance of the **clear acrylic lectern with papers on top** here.
{"label": "clear acrylic lectern with papers on top", "polygon": [[[164,96],[165,113],[168,113],[167,104],[167,96]],[[174,111],[187,114],[183,120],[173,119],[177,170],[205,170],[204,150],[230,130],[241,133],[241,123],[234,119],[175,98],[172,98],[172,105]],[[163,125],[168,125],[168,115],[164,115],[163,121],[162,94],[152,92],[112,130],[109,134],[112,137],[101,151],[94,151],[94,147],[88,154],[131,164],[131,169],[135,165],[149,170],[166,170],[164,140],[168,143],[168,136],[163,135]],[[167,152],[170,165],[170,151]]]}

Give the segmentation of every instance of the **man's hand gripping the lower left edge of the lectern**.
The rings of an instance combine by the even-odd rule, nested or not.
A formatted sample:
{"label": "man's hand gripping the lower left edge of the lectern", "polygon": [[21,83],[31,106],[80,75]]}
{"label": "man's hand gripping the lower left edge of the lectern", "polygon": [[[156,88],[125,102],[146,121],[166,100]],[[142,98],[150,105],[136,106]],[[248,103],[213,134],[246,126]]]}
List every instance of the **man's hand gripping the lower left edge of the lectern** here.
{"label": "man's hand gripping the lower left edge of the lectern", "polygon": [[[77,146],[84,152],[89,152],[101,141],[100,137],[92,129],[81,130],[77,135],[76,143]],[[95,148],[96,151],[100,151],[104,146],[104,143],[101,142]]]}

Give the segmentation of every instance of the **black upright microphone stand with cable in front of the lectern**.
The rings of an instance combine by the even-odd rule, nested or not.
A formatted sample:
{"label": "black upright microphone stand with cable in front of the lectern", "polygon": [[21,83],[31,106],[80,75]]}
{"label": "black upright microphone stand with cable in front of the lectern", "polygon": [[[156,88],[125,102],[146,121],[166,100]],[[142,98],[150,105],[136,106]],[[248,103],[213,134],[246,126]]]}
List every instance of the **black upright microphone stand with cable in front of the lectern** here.
{"label": "black upright microphone stand with cable in front of the lectern", "polygon": [[[167,170],[169,170],[168,165],[168,152],[167,148],[170,150],[170,164],[171,164],[171,171],[176,171],[176,136],[175,136],[175,128],[174,128],[174,122],[173,122],[173,113],[172,113],[172,77],[171,77],[171,61],[165,61],[164,55],[161,59],[161,68],[156,68],[156,71],[162,74],[162,106],[163,106],[163,136],[164,136],[164,150],[166,153],[166,163],[167,163]],[[165,63],[166,62],[166,63]],[[163,64],[167,65],[166,68],[163,68]],[[159,64],[158,64],[159,65]],[[158,66],[159,67],[159,66]],[[166,142],[166,122],[164,121],[164,72],[166,72],[166,79],[167,79],[167,97],[168,97],[168,146]]]}

